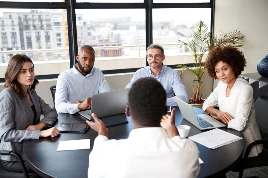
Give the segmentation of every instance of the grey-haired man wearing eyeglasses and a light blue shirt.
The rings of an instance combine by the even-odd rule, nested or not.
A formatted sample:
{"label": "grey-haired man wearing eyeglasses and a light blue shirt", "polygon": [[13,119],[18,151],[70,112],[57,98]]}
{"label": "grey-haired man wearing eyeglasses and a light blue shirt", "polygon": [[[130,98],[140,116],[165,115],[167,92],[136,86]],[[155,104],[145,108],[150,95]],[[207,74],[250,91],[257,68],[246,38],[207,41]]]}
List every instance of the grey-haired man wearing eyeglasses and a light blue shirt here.
{"label": "grey-haired man wearing eyeglasses and a light blue shirt", "polygon": [[163,47],[158,44],[150,45],[146,50],[146,58],[149,66],[137,70],[126,88],[131,88],[132,84],[140,78],[154,77],[166,90],[167,106],[177,106],[174,96],[189,103],[186,88],[178,72],[163,64],[166,58]]}

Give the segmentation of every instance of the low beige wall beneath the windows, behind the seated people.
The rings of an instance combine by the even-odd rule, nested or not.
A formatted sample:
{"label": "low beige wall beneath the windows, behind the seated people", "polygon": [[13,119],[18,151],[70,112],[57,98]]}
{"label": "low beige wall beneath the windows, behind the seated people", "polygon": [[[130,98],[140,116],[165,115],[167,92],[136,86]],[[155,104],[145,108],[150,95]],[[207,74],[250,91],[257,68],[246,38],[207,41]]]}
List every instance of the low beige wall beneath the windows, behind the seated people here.
{"label": "low beige wall beneath the windows, behind the seated people", "polygon": [[[180,71],[180,70],[178,70]],[[126,85],[130,82],[131,78],[133,77],[134,73],[124,73],[124,74],[107,74],[105,75],[105,79],[107,80],[111,90],[118,90],[125,88]],[[189,97],[192,96],[193,90],[193,80],[195,79],[194,74],[188,71],[184,71],[182,75],[183,84],[185,85]],[[212,79],[208,77],[207,74],[204,74],[202,79],[203,82],[203,96],[202,98],[207,98],[210,93],[212,92]],[[38,95],[46,101],[51,107],[53,107],[53,100],[51,96],[51,92],[49,87],[52,85],[56,85],[57,79],[45,79],[39,80],[39,84],[36,87],[36,92]],[[0,92],[4,88],[4,83],[0,83]]]}

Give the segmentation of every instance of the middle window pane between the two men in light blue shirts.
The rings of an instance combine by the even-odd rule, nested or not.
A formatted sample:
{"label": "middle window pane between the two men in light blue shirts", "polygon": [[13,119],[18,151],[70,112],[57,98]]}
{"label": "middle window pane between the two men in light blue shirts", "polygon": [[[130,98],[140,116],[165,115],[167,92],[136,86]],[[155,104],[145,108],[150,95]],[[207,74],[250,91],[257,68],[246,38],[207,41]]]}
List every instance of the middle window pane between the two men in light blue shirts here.
{"label": "middle window pane between the two men in light blue shirts", "polygon": [[145,9],[77,9],[77,43],[95,48],[101,70],[141,68],[144,55]]}

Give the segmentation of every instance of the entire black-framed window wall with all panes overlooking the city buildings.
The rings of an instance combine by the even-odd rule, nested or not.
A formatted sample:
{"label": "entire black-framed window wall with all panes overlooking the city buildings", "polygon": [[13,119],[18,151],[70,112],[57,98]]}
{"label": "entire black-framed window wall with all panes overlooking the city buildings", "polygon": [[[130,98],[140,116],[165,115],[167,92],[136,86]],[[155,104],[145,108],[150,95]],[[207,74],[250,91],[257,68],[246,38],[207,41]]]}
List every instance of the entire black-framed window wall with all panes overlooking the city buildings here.
{"label": "entire black-framed window wall with all panes overlooking the city buildings", "polygon": [[55,78],[77,62],[82,45],[94,47],[104,74],[148,65],[151,43],[164,47],[165,65],[192,63],[179,40],[199,20],[213,29],[214,0],[5,0],[1,6],[0,82],[16,53],[32,58],[36,75]]}

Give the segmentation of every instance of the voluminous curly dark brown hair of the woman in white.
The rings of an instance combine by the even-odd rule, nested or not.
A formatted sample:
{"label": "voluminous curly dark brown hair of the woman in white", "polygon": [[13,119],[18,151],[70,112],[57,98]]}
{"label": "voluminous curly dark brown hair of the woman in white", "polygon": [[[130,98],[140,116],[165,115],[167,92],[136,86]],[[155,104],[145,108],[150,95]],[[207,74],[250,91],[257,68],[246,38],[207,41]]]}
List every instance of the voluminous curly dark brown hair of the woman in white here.
{"label": "voluminous curly dark brown hair of the woman in white", "polygon": [[246,59],[241,51],[233,46],[216,46],[213,47],[208,55],[208,60],[205,63],[208,75],[212,79],[218,79],[216,77],[215,66],[219,62],[228,63],[236,74],[236,77],[244,71],[246,67]]}

